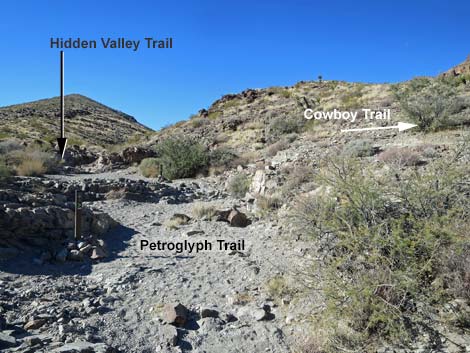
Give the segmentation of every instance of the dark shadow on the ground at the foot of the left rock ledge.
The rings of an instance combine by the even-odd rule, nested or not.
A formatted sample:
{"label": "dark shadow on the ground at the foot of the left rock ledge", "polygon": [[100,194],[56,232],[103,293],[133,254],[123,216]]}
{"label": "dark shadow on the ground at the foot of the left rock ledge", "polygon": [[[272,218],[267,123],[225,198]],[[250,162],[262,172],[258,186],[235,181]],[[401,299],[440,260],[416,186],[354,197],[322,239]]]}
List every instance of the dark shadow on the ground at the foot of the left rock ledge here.
{"label": "dark shadow on the ground at the foot of the left rock ledge", "polygon": [[[100,262],[114,261],[120,257],[120,253],[128,247],[128,241],[137,232],[128,227],[119,225],[102,238],[106,242],[108,256]],[[22,251],[12,259],[0,261],[0,272],[18,275],[48,275],[48,276],[70,276],[88,275],[93,267],[93,261],[87,259],[81,262],[67,261],[57,263],[54,261],[38,264],[38,251]],[[36,260],[35,260],[36,259]]]}

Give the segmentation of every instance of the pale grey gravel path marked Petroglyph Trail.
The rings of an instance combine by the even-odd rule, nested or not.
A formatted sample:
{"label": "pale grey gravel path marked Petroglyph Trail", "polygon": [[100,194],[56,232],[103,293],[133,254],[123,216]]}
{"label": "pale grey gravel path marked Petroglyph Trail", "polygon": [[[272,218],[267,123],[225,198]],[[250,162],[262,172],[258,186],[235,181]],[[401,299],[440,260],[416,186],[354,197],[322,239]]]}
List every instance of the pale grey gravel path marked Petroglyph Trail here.
{"label": "pale grey gravel path marked Petroglyph Trail", "polygon": [[[69,180],[83,178],[67,177]],[[213,194],[206,185],[201,189],[202,200],[204,195]],[[236,205],[237,200],[223,197],[211,203],[217,209],[227,209]],[[50,293],[41,293],[44,290],[41,288],[49,288],[46,292],[54,293],[61,292],[58,288],[67,283],[80,283],[87,288],[85,293],[62,289],[62,292],[69,291],[67,302],[57,300],[45,304],[55,306],[55,311],[49,311],[57,312],[56,318],[63,317],[61,311],[73,311],[77,305],[84,306],[86,314],[77,315],[78,318],[65,325],[63,320],[53,319],[57,322],[50,329],[42,329],[43,333],[55,340],[58,330],[59,334],[66,333],[66,342],[95,340],[121,352],[291,351],[290,336],[300,326],[292,323],[292,317],[286,323],[286,316],[292,316],[293,311],[289,300],[281,304],[282,298],[270,297],[266,285],[273,277],[283,276],[298,266],[295,259],[300,262],[302,244],[287,240],[278,225],[255,220],[248,227],[237,228],[225,222],[191,220],[170,230],[165,221],[175,213],[191,215],[194,202],[107,200],[90,206],[105,211],[120,223],[104,238],[110,254],[106,260],[93,265],[47,264],[39,274],[6,279],[18,291],[28,287],[34,290],[36,286],[40,303],[47,301],[44,296],[52,297]],[[212,250],[199,253],[141,250],[142,240],[207,241],[212,244]],[[243,240],[244,249],[219,250],[217,240],[236,244]],[[28,264],[11,266],[16,267],[11,269],[15,273]],[[94,287],[98,289],[88,291]],[[61,297],[61,293],[57,296]],[[163,319],[163,306],[172,302],[189,309],[188,322],[177,328],[177,338],[173,337],[174,329]],[[58,305],[62,307],[57,308]],[[214,308],[218,317],[201,318],[204,308]],[[260,311],[265,315],[260,316]]]}

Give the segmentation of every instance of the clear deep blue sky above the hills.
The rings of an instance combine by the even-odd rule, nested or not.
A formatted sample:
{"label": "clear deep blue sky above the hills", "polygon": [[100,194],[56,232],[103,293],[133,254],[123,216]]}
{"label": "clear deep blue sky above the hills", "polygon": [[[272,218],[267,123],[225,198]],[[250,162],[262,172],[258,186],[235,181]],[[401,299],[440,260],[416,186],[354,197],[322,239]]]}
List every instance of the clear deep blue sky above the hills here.
{"label": "clear deep blue sky above the hills", "polygon": [[246,88],[436,75],[470,54],[468,14],[468,0],[4,0],[0,106],[58,95],[51,37],[173,37],[163,51],[65,50],[66,93],[158,129]]}

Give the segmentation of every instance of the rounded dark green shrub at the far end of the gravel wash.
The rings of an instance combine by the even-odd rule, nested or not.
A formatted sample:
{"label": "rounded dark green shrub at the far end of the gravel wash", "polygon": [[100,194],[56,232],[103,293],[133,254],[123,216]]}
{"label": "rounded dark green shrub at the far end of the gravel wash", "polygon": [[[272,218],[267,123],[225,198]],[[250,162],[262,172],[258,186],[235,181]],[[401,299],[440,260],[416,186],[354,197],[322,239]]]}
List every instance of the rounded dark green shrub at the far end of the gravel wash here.
{"label": "rounded dark green shrub at the far end of the gravel wash", "polygon": [[207,167],[208,153],[204,146],[186,137],[172,137],[156,146],[162,174],[167,179],[191,178]]}

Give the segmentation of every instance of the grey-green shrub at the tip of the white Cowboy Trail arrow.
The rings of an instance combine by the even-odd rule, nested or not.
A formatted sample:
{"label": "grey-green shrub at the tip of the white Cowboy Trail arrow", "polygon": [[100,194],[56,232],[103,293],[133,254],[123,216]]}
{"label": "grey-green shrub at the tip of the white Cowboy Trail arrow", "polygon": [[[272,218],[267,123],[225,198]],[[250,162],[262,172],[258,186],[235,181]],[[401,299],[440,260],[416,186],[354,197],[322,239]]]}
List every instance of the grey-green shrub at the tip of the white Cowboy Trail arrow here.
{"label": "grey-green shrub at the tip of the white Cowboy Trail arrow", "polygon": [[408,117],[425,132],[458,124],[454,115],[468,107],[456,87],[442,79],[417,78],[394,91]]}

